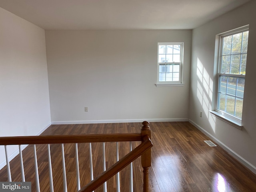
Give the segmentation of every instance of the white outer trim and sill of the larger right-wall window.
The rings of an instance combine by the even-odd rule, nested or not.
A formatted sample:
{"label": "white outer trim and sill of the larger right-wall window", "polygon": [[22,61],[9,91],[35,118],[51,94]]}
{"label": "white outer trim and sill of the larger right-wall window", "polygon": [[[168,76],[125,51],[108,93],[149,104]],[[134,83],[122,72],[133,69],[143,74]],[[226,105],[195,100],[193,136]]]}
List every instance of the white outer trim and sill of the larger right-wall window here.
{"label": "white outer trim and sill of the larger right-wall window", "polygon": [[[242,130],[243,125],[242,125],[242,120],[240,120],[239,118],[236,118],[234,116],[228,115],[220,110],[218,110],[217,105],[218,105],[218,84],[219,84],[219,62],[220,62],[220,46],[221,46],[221,39],[224,36],[228,36],[230,34],[236,34],[236,33],[240,33],[242,31],[248,30],[249,29],[249,25],[246,26],[242,26],[240,28],[234,29],[234,30],[230,30],[228,32],[224,32],[221,34],[216,35],[216,43],[215,43],[215,58],[214,58],[214,76],[215,76],[215,84],[214,84],[214,92],[215,94],[213,94],[213,108],[210,111],[210,113],[212,114],[212,116],[215,116],[216,118],[234,126],[235,128],[238,128],[240,130]],[[229,74],[228,74],[229,75]],[[231,74],[232,76],[232,74]]]}

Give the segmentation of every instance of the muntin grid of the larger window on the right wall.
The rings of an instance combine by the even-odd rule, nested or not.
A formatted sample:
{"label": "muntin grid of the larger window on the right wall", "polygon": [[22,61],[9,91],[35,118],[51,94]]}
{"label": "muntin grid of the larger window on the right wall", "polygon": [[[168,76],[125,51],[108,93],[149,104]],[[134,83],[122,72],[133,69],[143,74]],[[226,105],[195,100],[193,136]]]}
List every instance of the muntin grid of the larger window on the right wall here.
{"label": "muntin grid of the larger window on the right wall", "polygon": [[[241,67],[242,67],[242,55],[246,55],[246,62],[247,62],[247,50],[248,50],[248,38],[247,38],[247,44],[246,44],[246,52],[244,52],[243,50],[243,43],[244,43],[244,32],[248,32],[249,33],[249,30],[248,30],[248,27],[246,27],[245,29],[243,30],[237,30],[236,32],[229,32],[229,33],[226,33],[226,34],[223,34],[221,37],[220,37],[220,47],[219,47],[219,62],[218,62],[218,94],[217,94],[217,102],[216,102],[216,111],[219,112],[220,114],[224,115],[224,116],[227,116],[231,119],[234,119],[238,122],[241,122],[242,120],[242,114],[241,114],[241,117],[237,117],[236,116],[236,105],[237,105],[237,100],[242,100],[243,102],[243,97],[239,97],[237,96],[237,86],[238,86],[238,78],[244,78],[245,79],[245,74],[241,74]],[[232,54],[232,45],[231,45],[231,54],[222,54],[223,53],[223,40],[225,37],[227,36],[232,36],[232,44],[233,44],[233,36],[235,34],[240,34],[242,33],[242,40],[241,40],[241,50],[240,50],[240,53],[238,54]],[[223,73],[222,72],[222,57],[223,56],[230,56],[230,72],[231,72],[231,56],[233,55],[240,55],[240,67],[239,67],[239,74],[228,74],[228,73]],[[245,69],[246,69],[246,64],[245,64]],[[220,92],[220,87],[221,87],[221,84],[220,84],[220,76],[226,76],[227,78],[228,77],[236,77],[236,91],[235,91],[235,101],[234,101],[234,115],[231,115],[229,113],[226,112],[226,106],[227,104],[225,103],[225,110],[220,110],[220,95],[221,95],[221,92]],[[227,83],[228,84],[228,83]],[[226,91],[227,91],[227,87],[226,87]],[[222,94],[223,95],[223,94]],[[233,96],[234,95],[231,95],[231,94],[225,94],[225,102],[227,102],[227,96]],[[241,112],[242,113],[242,112]]]}

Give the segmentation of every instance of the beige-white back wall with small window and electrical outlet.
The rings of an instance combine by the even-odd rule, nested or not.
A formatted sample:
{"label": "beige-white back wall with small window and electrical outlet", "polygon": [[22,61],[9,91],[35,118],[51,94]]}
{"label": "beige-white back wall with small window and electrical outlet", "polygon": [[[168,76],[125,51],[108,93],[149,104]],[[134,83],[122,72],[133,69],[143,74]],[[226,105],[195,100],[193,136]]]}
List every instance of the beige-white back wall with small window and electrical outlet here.
{"label": "beige-white back wall with small window and electrical outlet", "polygon": [[[191,32],[46,30],[52,123],[188,120]],[[184,86],[155,86],[158,42],[184,42]]]}

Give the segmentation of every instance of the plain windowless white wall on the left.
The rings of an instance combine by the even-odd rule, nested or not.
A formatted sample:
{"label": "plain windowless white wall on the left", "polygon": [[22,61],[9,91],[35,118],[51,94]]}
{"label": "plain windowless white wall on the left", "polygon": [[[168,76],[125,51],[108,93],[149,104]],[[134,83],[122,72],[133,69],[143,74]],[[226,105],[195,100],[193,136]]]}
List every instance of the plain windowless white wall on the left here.
{"label": "plain windowless white wall on the left", "polygon": [[51,122],[44,30],[2,8],[0,29],[0,136],[40,134]]}

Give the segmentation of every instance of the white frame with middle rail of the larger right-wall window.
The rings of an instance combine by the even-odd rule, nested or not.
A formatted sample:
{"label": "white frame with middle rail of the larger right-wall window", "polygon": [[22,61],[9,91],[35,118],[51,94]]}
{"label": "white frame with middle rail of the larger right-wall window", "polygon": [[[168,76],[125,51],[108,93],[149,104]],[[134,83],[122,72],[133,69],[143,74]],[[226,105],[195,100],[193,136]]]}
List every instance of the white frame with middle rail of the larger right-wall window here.
{"label": "white frame with middle rail of the larger right-wall window", "polygon": [[[227,73],[222,73],[221,72],[221,62],[222,62],[222,39],[226,36],[231,36],[234,34],[238,34],[238,33],[242,33],[245,31],[249,31],[249,26],[243,26],[241,28],[237,28],[222,34],[218,34],[217,35],[217,39],[218,42],[216,44],[216,47],[218,48],[218,52],[217,52],[217,57],[215,58],[215,63],[217,66],[217,71],[216,71],[216,86],[215,86],[215,92],[216,94],[214,94],[214,99],[213,99],[213,105],[214,108],[212,111],[210,111],[212,113],[212,115],[216,116],[217,118],[219,118],[220,120],[223,120],[224,122],[227,122],[228,124],[231,124],[232,126],[238,128],[238,129],[242,129],[242,118],[238,118],[236,116],[232,116],[226,112],[223,112],[222,110],[218,109],[218,92],[219,92],[219,82],[220,82],[220,76],[226,76],[226,77],[237,77],[237,78],[246,78],[245,74],[227,74]],[[242,54],[242,53],[241,53]],[[246,52],[247,54],[247,52]],[[246,63],[247,65],[247,63]],[[237,95],[235,95],[235,97],[237,97]]]}

